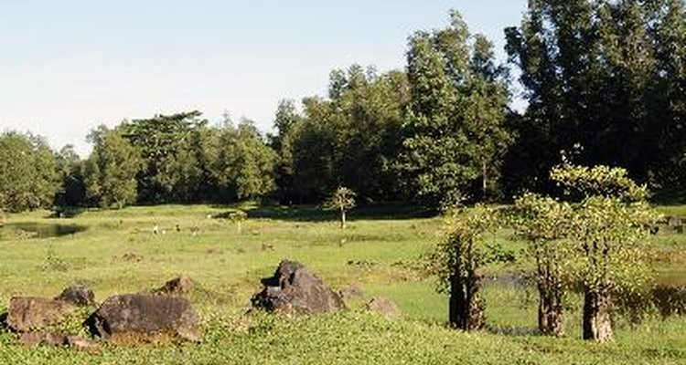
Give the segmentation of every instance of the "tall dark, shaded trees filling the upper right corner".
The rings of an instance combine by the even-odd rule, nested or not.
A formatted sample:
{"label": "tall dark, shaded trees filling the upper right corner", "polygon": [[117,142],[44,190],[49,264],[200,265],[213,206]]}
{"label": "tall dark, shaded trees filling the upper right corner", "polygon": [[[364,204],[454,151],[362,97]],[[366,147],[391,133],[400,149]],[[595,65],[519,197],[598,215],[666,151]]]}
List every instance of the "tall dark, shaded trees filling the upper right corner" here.
{"label": "tall dark, shaded trees filling the upper right corner", "polygon": [[558,151],[574,145],[580,163],[623,166],[653,190],[681,185],[684,29],[681,0],[529,2],[506,29],[528,101],[513,124],[510,189],[550,189]]}

